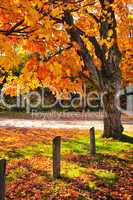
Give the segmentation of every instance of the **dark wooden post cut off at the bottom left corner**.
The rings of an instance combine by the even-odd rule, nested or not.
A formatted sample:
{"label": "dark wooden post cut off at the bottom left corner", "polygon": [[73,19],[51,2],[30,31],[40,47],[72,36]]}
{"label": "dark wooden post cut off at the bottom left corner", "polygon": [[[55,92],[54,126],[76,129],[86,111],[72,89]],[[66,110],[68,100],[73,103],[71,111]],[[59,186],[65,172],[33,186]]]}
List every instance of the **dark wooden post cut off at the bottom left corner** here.
{"label": "dark wooden post cut off at the bottom left corner", "polygon": [[5,199],[6,160],[0,160],[0,200]]}

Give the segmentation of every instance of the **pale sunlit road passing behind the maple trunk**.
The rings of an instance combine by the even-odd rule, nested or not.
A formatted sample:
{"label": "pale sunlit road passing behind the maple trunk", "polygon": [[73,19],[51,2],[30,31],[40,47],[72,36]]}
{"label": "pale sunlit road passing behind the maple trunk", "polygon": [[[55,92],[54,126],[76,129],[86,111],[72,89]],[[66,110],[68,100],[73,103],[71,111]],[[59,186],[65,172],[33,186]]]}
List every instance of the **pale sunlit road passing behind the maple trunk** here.
{"label": "pale sunlit road passing behind the maple trunk", "polygon": [[[125,131],[133,132],[133,123],[123,122]],[[0,119],[0,127],[17,128],[64,128],[64,129],[89,129],[95,127],[103,130],[102,121],[50,121],[31,119]]]}

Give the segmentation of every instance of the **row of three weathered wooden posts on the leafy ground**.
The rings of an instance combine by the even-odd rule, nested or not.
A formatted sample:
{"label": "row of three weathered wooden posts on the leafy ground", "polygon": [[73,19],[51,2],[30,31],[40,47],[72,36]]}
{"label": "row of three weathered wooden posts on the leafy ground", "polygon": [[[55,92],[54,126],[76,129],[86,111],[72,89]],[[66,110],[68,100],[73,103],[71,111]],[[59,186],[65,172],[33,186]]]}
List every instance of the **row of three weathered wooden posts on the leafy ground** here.
{"label": "row of three weathered wooden posts on the leafy ground", "polygon": [[[96,154],[95,129],[90,129],[90,154]],[[0,160],[0,200],[5,200],[6,160]],[[61,137],[53,139],[53,178],[61,177]]]}

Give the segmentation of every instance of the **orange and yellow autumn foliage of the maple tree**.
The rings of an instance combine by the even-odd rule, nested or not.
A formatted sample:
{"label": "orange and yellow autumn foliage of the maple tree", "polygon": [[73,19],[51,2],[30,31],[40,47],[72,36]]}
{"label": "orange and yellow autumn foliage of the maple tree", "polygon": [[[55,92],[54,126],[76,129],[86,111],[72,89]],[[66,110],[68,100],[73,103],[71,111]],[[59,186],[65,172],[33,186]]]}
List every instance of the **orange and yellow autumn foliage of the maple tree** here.
{"label": "orange and yellow autumn foliage of the maple tree", "polygon": [[[129,38],[133,17],[130,4],[129,0],[105,2],[105,8],[110,6],[116,15],[124,84],[133,82],[132,38]],[[23,63],[20,76],[7,79],[5,88],[12,84],[26,84],[26,87],[22,87],[25,88],[24,92],[28,92],[38,86],[52,85],[60,91],[65,83],[66,91],[82,91],[83,82],[79,79],[83,80],[83,77],[80,72],[86,73],[86,66],[79,55],[79,44],[68,34],[71,29],[65,20],[65,12],[68,10],[94,65],[101,70],[101,60],[88,38],[95,37],[101,47],[106,46],[108,49],[115,41],[112,27],[107,31],[106,38],[100,36],[101,24],[106,17],[110,18],[110,13],[101,7],[100,1],[3,0],[0,6],[0,65],[11,72],[14,65],[19,68],[22,54],[29,55],[28,61]],[[16,45],[18,49],[21,48],[21,55]],[[105,57],[108,57],[108,52]],[[10,73],[9,76],[14,74]]]}

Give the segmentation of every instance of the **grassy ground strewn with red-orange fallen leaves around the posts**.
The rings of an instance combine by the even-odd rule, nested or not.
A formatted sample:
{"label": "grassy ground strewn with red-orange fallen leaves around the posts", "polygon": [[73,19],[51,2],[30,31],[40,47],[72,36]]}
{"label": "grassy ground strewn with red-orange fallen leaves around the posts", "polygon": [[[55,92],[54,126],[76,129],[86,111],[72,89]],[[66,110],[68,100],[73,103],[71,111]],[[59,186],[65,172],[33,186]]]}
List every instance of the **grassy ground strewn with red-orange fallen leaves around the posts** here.
{"label": "grassy ground strewn with red-orange fallen leaves around the posts", "polygon": [[[126,133],[131,136],[132,134]],[[52,139],[62,136],[62,178],[52,178]],[[0,129],[0,158],[8,160],[7,200],[131,200],[132,144],[102,139],[89,155],[89,132]]]}

